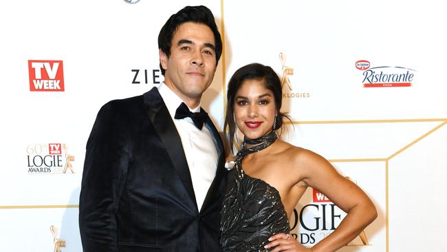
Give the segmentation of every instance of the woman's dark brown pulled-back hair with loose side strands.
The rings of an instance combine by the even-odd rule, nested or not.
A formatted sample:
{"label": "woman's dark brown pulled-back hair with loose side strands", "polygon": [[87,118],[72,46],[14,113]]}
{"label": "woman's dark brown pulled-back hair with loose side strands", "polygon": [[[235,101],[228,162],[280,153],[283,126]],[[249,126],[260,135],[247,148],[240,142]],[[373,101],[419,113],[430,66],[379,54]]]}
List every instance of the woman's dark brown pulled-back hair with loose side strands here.
{"label": "woman's dark brown pulled-back hair with loose side strands", "polygon": [[276,111],[276,127],[275,129],[281,128],[283,126],[283,118],[287,116],[281,113],[281,105],[283,104],[283,92],[281,88],[281,81],[279,80],[278,74],[274,72],[272,67],[267,65],[262,65],[259,63],[252,63],[239,68],[228,82],[227,90],[227,106],[225,114],[225,124],[223,126],[223,132],[226,132],[228,144],[230,149],[232,149],[235,132],[236,123],[233,114],[235,113],[235,96],[237,90],[241,87],[243,81],[246,80],[259,80],[263,82],[266,89],[272,91],[274,97],[274,104]]}

